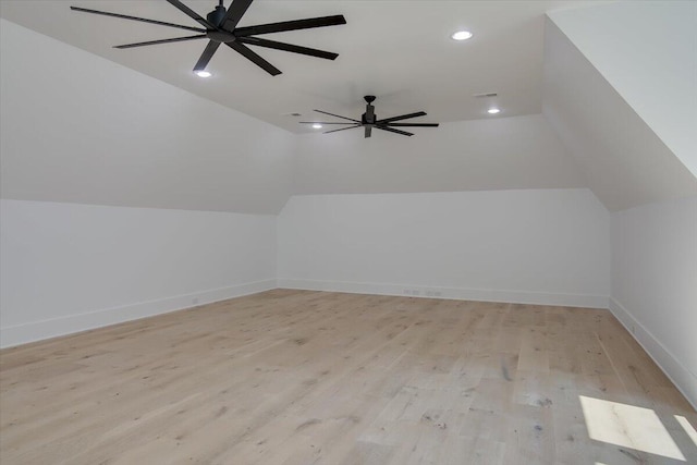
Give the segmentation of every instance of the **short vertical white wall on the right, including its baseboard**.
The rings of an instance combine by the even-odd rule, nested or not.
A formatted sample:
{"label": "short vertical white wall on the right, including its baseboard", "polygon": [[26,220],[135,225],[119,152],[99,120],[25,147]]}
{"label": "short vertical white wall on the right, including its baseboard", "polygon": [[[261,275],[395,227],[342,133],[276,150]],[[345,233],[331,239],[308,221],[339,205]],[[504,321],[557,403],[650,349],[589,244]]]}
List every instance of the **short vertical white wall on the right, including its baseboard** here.
{"label": "short vertical white wall on the right, including its baseboard", "polygon": [[611,309],[697,405],[697,197],[612,215]]}

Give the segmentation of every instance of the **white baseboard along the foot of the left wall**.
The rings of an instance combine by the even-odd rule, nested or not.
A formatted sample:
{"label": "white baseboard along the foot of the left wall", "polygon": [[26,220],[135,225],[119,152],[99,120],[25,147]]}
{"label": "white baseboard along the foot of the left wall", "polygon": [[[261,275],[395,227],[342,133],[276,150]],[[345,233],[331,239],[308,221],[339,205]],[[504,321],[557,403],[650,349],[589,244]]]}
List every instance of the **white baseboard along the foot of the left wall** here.
{"label": "white baseboard along the foot of the left wall", "polygon": [[0,347],[11,347],[59,335],[73,334],[212,302],[257,294],[276,287],[276,280],[270,279],[0,328]]}

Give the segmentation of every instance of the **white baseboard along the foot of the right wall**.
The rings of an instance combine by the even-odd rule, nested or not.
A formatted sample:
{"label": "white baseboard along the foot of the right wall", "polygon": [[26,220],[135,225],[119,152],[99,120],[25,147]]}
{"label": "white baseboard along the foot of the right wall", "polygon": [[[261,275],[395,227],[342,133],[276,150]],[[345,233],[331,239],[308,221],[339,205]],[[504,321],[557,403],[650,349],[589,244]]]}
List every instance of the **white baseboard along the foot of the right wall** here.
{"label": "white baseboard along the foot of the right wall", "polygon": [[690,372],[671,351],[632,314],[614,298],[610,298],[610,311],[620,320],[622,326],[634,336],[649,357],[663,370],[665,376],[683,393],[685,399],[697,409],[697,376]]}

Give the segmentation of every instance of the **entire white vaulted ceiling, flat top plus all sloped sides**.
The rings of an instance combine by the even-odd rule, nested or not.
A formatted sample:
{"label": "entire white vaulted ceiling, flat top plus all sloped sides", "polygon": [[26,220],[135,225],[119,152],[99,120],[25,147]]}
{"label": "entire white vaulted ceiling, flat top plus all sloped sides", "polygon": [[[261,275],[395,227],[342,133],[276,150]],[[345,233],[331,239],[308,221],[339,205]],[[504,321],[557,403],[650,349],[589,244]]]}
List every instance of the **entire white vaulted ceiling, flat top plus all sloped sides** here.
{"label": "entire white vaulted ceiling, flat top plus all sloped sides", "polygon": [[[213,2],[186,3],[205,14]],[[272,37],[340,57],[259,50],[283,71],[272,77],[222,49],[205,81],[192,73],[200,41],[115,50],[176,30],[70,4],[189,21],[163,0],[0,0],[3,197],[276,213],[292,194],[585,186],[611,210],[697,195],[697,106],[667,113],[681,95],[697,102],[684,52],[695,3],[257,0],[241,25],[344,14]],[[647,17],[662,19],[661,39],[622,53]],[[475,36],[450,39],[460,28]],[[671,44],[682,51],[664,53]],[[673,90],[657,88],[673,75]],[[364,139],[297,123],[319,119],[314,108],[356,118],[366,94],[379,115],[425,110],[442,124]]]}

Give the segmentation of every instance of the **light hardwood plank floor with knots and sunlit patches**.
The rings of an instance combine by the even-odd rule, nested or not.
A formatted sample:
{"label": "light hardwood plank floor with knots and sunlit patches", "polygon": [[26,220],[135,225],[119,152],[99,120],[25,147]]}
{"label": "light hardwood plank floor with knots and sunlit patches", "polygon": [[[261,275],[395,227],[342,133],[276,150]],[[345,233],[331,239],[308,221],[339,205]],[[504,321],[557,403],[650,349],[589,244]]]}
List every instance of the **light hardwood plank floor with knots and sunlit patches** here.
{"label": "light hardwood plank floor with knots and sunlit patches", "polygon": [[0,367],[2,465],[697,463],[607,310],[278,290]]}

